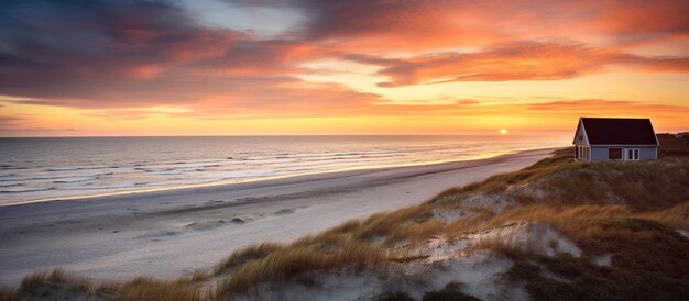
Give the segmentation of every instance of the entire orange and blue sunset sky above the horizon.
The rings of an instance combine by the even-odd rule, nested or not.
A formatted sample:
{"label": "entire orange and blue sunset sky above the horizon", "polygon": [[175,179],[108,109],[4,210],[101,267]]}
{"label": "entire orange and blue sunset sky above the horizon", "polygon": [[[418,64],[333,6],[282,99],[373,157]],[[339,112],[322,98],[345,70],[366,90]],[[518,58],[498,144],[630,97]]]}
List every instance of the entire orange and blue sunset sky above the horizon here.
{"label": "entire orange and blue sunset sky above the horizon", "polygon": [[4,0],[0,136],[689,131],[689,1]]}

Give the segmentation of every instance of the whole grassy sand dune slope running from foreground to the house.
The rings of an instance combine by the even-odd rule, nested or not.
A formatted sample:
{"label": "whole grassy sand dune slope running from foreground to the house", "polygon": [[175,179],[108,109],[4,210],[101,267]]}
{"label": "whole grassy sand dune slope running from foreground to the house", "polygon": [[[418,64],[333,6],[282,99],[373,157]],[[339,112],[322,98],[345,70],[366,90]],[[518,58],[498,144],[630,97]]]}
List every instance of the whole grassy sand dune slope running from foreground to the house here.
{"label": "whole grassy sand dune slope running from foreground to the house", "polygon": [[352,220],[233,252],[175,280],[28,276],[2,300],[689,300],[689,149],[582,164],[572,149]]}

